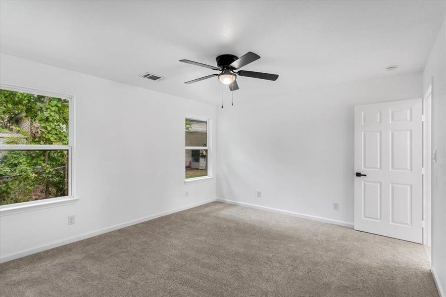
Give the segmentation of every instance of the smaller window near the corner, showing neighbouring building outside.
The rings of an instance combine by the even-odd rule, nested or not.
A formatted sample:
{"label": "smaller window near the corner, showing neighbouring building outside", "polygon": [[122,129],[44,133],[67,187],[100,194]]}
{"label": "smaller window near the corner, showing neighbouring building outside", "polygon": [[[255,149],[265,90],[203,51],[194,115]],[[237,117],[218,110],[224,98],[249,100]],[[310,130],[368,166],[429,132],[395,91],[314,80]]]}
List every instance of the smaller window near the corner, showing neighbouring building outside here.
{"label": "smaller window near the corner, showing neighbouring building outside", "polygon": [[186,118],[186,180],[210,176],[208,121]]}

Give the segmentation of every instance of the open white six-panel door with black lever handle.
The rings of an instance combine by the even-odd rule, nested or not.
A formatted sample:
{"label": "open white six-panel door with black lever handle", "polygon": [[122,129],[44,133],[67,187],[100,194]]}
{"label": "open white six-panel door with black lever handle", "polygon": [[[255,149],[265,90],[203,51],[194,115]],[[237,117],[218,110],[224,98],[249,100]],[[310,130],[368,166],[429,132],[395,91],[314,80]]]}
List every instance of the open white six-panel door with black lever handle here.
{"label": "open white six-panel door with black lever handle", "polygon": [[421,99],[355,106],[355,230],[422,242],[421,118]]}

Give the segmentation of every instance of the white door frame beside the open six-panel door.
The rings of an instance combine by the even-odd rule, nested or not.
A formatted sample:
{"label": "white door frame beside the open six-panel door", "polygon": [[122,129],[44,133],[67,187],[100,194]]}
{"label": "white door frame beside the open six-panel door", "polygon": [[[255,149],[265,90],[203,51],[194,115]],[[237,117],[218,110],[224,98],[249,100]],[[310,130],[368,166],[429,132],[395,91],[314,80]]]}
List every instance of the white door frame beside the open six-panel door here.
{"label": "white door frame beside the open six-panel door", "polygon": [[423,96],[423,245],[431,246],[432,84]]}

